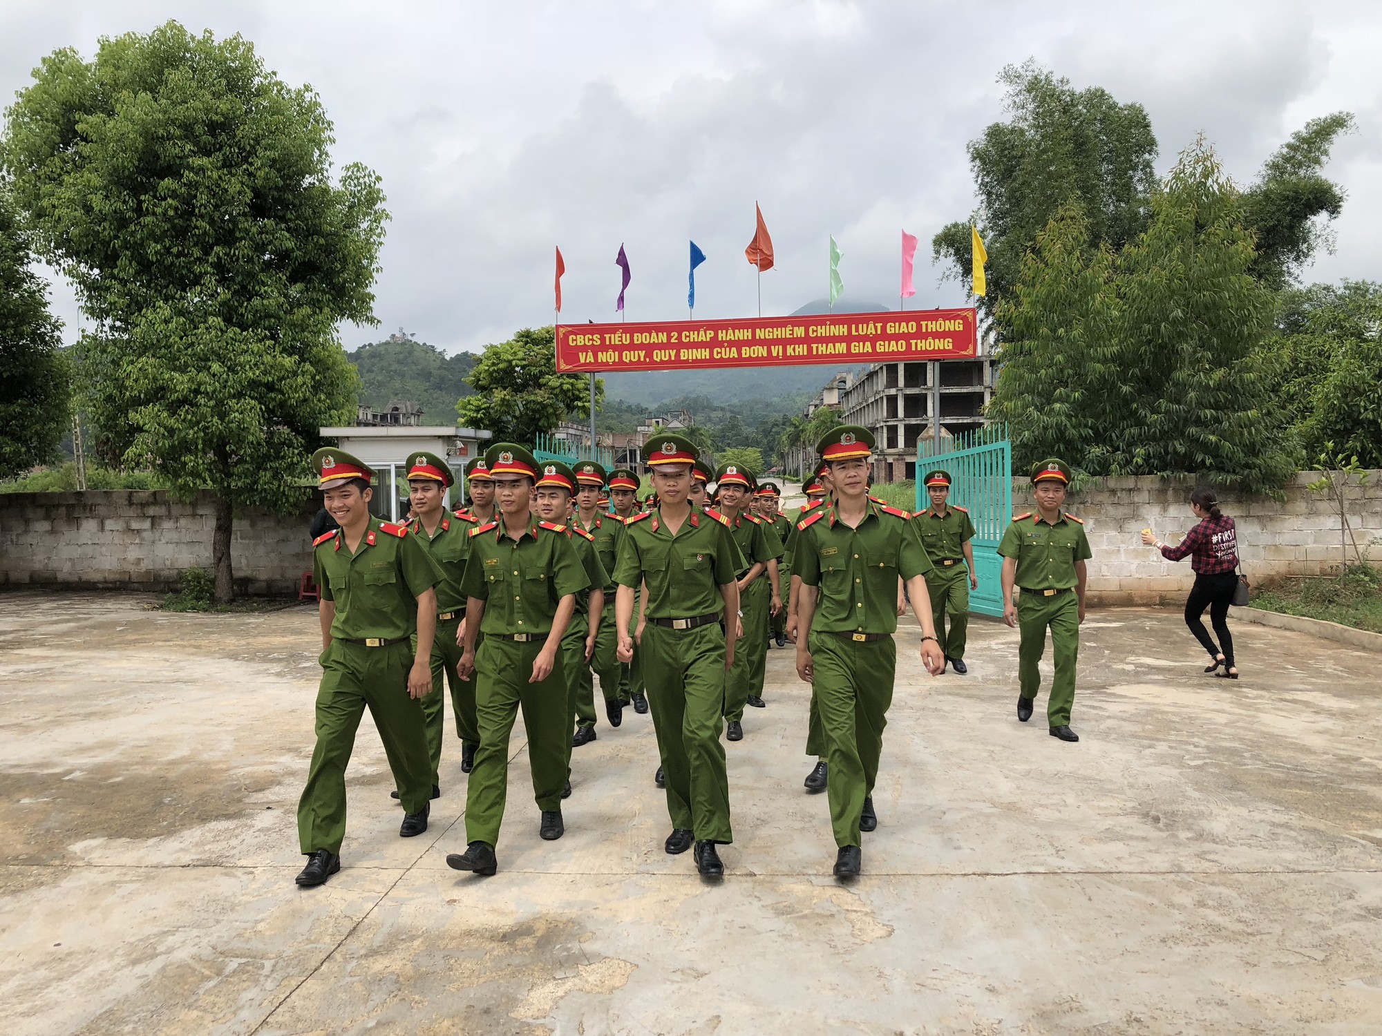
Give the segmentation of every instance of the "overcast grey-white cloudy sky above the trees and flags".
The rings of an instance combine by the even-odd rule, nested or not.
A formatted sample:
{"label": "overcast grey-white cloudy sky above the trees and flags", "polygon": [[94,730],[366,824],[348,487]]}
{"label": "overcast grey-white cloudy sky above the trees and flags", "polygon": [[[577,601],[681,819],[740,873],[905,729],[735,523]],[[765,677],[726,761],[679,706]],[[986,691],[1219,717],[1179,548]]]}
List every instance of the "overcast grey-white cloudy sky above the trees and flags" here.
{"label": "overcast grey-white cloudy sky above the trees and flags", "polygon": [[[974,203],[965,144],[1002,117],[995,76],[1027,58],[1142,102],[1158,169],[1198,131],[1247,182],[1307,119],[1360,131],[1329,175],[1349,193],[1335,254],[1310,279],[1382,279],[1382,4],[1357,3],[293,3],[0,0],[0,97],[57,47],[176,18],[239,32],[286,81],[311,83],[339,163],[384,178],[381,329],[478,348],[551,319],[615,319],[615,253],[630,320],[685,315],[687,240],[702,316],[756,311],[744,258],[753,203],[778,267],[763,312],[826,287],[826,233],[847,298],[897,301],[900,231],[922,239],[909,308],[963,305],[930,267],[930,236]],[[70,293],[54,307],[77,323]]]}

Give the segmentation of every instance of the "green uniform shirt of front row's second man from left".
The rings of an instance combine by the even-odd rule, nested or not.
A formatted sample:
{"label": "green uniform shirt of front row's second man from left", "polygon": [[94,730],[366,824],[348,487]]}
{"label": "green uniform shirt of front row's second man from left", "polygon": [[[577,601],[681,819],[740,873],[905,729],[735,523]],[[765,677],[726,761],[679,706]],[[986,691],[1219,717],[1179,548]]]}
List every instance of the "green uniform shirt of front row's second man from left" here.
{"label": "green uniform shirt of front row's second man from left", "polygon": [[557,604],[586,590],[590,577],[564,526],[529,517],[528,529],[514,540],[500,518],[471,529],[460,586],[466,597],[485,602],[481,633],[551,633]]}

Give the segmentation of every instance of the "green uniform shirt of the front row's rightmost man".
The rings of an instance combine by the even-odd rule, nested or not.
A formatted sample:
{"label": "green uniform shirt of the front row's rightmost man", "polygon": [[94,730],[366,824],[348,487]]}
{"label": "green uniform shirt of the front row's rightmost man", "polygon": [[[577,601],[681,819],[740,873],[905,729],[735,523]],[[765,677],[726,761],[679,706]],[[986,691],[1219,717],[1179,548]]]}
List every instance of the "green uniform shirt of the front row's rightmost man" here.
{"label": "green uniform shirt of the front row's rightmost man", "polygon": [[896,633],[897,577],[931,572],[907,512],[869,501],[851,529],[833,507],[813,508],[796,528],[792,573],[821,591],[811,630]]}

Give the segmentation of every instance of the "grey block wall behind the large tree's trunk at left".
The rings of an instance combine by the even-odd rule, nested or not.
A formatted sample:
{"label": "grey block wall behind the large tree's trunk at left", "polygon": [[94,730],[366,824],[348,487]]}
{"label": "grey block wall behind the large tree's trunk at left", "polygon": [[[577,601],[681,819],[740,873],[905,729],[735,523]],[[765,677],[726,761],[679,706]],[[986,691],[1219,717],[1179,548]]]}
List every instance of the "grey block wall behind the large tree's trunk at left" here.
{"label": "grey block wall behind the large tree's trunk at left", "polygon": [[[307,530],[319,504],[283,518],[235,517],[231,565],[238,593],[296,593],[311,566]],[[176,588],[192,566],[211,568],[210,493],[0,493],[0,586]]]}

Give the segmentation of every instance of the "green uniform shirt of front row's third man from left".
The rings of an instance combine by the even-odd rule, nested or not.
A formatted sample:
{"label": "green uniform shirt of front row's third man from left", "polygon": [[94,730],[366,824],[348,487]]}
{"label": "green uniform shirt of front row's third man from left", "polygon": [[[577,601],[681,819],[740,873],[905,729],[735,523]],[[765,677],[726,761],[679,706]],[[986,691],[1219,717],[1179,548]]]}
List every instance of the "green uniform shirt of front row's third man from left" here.
{"label": "green uniform shirt of front row's third man from left", "polygon": [[730,535],[728,519],[717,511],[698,511],[673,536],[658,511],[644,511],[623,526],[623,543],[614,577],[621,586],[648,586],[648,619],[694,619],[720,612],[720,587],[745,568]]}

